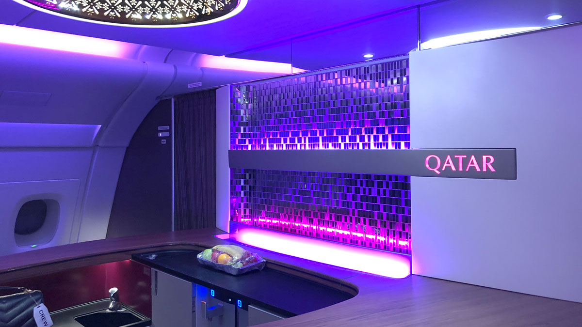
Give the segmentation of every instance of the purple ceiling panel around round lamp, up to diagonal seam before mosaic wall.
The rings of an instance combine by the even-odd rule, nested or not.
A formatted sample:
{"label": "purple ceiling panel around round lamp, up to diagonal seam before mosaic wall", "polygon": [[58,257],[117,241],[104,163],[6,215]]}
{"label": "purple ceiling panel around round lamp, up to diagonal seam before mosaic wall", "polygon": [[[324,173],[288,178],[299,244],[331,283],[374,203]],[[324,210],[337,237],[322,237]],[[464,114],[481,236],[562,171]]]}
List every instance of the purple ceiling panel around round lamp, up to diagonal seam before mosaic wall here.
{"label": "purple ceiling panel around round lamp, up to diagonal seam before mosaic wall", "polygon": [[[43,12],[35,12],[20,25],[204,54],[225,55],[424,2],[429,1],[249,0],[247,7],[230,19],[203,26],[172,29],[105,26]],[[5,11],[5,8],[14,10],[15,7],[10,0],[0,1],[0,12]],[[7,18],[0,20],[0,23],[6,22]]]}

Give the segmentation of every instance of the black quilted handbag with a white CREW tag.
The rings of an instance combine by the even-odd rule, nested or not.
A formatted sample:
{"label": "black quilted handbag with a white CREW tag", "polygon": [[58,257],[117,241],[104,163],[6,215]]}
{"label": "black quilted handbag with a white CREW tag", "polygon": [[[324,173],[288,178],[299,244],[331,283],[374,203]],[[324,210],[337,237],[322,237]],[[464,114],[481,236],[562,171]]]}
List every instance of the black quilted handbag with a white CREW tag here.
{"label": "black quilted handbag with a white CREW tag", "polygon": [[31,291],[24,287],[0,286],[0,327],[37,327],[34,321],[34,307],[41,304],[40,291]]}

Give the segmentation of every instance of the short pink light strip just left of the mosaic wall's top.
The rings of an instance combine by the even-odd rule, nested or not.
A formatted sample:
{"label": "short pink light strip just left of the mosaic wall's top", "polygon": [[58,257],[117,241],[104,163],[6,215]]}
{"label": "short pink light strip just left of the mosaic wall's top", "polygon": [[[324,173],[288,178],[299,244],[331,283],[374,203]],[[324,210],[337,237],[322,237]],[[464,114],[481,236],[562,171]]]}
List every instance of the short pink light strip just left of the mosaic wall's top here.
{"label": "short pink light strip just left of the mosaic wall's top", "polygon": [[292,67],[289,63],[228,58],[225,56],[199,55],[200,66],[218,69],[244,70],[261,73],[300,73],[306,70]]}

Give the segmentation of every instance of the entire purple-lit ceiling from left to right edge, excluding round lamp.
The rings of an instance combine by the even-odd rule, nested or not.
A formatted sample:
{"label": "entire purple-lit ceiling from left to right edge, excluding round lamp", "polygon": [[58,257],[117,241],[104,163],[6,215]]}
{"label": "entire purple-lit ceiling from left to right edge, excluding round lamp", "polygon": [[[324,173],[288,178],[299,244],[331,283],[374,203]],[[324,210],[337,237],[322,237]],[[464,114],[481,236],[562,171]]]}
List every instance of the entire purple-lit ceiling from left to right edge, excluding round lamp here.
{"label": "entire purple-lit ceiling from left to right edge, excluding round lamp", "polygon": [[[420,5],[420,24],[415,6]],[[408,8],[409,10],[404,10]],[[562,20],[545,16],[562,13]],[[421,40],[486,29],[582,20],[582,0],[249,0],[203,26],[140,29],[80,22],[0,0],[0,24],[320,69],[407,54]]]}

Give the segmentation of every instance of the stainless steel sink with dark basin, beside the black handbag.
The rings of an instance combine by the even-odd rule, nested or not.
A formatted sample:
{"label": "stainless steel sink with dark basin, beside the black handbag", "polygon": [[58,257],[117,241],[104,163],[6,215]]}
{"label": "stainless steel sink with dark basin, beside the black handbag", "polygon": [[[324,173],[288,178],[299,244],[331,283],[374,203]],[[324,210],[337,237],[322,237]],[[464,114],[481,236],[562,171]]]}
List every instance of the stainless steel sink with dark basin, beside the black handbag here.
{"label": "stainless steel sink with dark basin, beside the black handbag", "polygon": [[148,327],[150,318],[123,305],[123,311],[108,311],[109,299],[51,312],[55,327]]}

